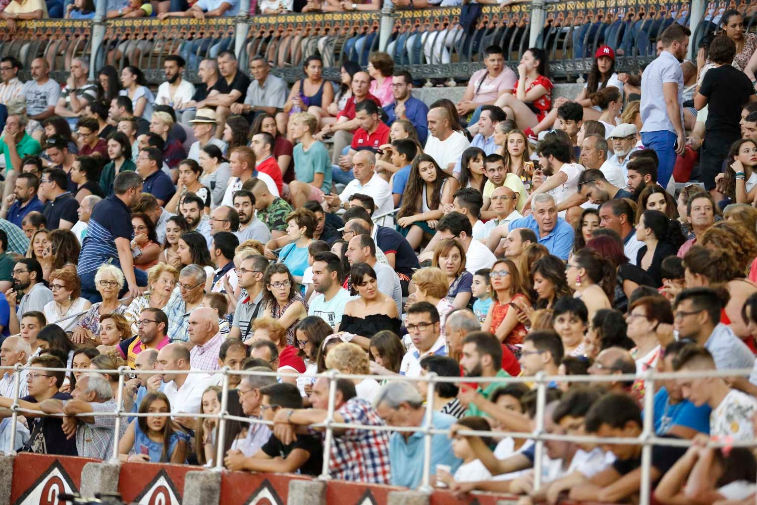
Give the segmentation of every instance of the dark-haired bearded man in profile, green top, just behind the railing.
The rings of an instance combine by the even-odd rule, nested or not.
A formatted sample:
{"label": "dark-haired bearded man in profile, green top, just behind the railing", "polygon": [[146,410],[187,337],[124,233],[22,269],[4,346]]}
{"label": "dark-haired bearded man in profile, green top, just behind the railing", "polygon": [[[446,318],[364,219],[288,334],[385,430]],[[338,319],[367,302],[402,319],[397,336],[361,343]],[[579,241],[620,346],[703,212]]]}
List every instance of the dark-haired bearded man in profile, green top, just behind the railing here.
{"label": "dark-haired bearded man in profile, green top, just behind the railing", "polygon": [[[504,378],[510,376],[502,369],[502,344],[489,332],[472,332],[463,339],[463,357],[460,358],[460,366],[463,367],[466,377]],[[489,395],[502,385],[506,385],[506,381],[486,382],[478,385],[476,393],[488,399]],[[484,412],[475,404],[470,404],[466,410],[466,416],[484,415]]]}

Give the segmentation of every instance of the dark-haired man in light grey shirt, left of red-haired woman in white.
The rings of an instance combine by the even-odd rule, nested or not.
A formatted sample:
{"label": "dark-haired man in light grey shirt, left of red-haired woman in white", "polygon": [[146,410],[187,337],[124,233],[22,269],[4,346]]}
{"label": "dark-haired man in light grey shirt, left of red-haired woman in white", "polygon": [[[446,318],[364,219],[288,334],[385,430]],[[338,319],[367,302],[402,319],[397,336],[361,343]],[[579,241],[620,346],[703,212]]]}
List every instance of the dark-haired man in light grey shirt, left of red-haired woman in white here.
{"label": "dark-haired man in light grey shirt, left of red-haired woman in white", "polygon": [[[52,301],[52,291],[42,280],[42,265],[34,258],[25,257],[17,261],[13,267],[13,288],[5,291],[8,305],[14,307],[8,318],[8,329],[11,335],[20,332],[20,314],[37,310],[42,312],[45,305]],[[20,304],[16,309],[16,298],[19,292],[23,292]]]}

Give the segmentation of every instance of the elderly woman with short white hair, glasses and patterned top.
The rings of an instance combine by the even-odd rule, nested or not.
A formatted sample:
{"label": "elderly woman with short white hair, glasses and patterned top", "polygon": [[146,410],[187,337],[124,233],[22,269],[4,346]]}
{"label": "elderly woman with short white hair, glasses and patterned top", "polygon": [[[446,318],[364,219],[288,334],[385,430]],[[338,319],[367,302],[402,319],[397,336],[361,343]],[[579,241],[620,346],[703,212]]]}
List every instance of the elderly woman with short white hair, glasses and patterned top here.
{"label": "elderly woman with short white hair, glasses and patterned top", "polygon": [[[102,265],[95,273],[95,287],[102,297],[102,301],[92,304],[86,314],[73,329],[71,341],[75,344],[100,344],[100,316],[116,313],[123,314],[126,305],[118,299],[118,293],[123,288],[125,279],[123,272],[114,265]],[[87,346],[89,347],[89,345]]]}

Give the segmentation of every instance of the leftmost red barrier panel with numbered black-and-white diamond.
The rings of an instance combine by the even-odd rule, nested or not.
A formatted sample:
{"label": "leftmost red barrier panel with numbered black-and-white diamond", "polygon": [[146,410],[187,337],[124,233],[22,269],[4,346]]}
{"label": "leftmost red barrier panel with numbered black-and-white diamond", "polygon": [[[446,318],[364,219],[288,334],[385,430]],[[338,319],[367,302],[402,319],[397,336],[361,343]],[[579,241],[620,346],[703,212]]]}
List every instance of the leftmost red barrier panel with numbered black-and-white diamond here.
{"label": "leftmost red barrier panel with numbered black-and-white diamond", "polygon": [[79,491],[86,457],[19,453],[13,462],[11,505],[57,505],[58,494]]}

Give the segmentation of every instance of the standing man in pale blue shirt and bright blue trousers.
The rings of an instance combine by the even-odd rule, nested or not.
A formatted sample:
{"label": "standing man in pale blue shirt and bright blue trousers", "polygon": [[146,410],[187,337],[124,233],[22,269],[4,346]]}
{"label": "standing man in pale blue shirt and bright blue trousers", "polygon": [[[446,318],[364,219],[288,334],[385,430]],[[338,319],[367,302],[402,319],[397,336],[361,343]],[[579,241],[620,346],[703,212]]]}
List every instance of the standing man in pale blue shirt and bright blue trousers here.
{"label": "standing man in pale blue shirt and bright blue trousers", "polygon": [[662,32],[662,53],[650,63],[641,76],[641,141],[646,148],[657,151],[660,159],[659,182],[668,185],[676,154],[684,154],[684,61],[689,47],[690,30],[678,23]]}

